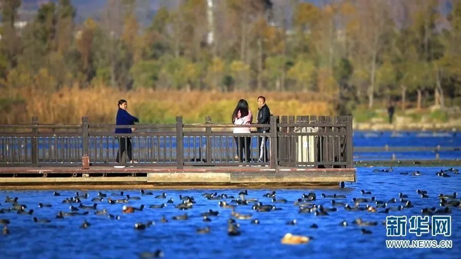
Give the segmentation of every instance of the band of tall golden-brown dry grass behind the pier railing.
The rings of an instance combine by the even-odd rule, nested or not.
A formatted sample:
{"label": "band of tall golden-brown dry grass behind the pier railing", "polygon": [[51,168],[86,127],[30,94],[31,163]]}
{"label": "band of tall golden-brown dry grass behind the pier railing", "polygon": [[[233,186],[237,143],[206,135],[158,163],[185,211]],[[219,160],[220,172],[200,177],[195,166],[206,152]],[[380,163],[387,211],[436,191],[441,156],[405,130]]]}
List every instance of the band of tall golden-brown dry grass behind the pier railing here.
{"label": "band of tall golden-brown dry grass behind the pier railing", "polygon": [[65,88],[44,94],[34,89],[18,89],[10,93],[25,103],[10,108],[0,123],[29,123],[38,116],[41,123],[80,123],[88,116],[90,123],[113,123],[117,101],[126,99],[128,111],[141,123],[172,123],[182,115],[187,123],[230,122],[232,111],[240,98],[246,99],[253,114],[257,113],[256,98],[264,95],[274,115],[333,115],[333,104],[327,100],[312,100],[312,93],[278,92],[183,92],[137,90],[121,92],[112,88]]}

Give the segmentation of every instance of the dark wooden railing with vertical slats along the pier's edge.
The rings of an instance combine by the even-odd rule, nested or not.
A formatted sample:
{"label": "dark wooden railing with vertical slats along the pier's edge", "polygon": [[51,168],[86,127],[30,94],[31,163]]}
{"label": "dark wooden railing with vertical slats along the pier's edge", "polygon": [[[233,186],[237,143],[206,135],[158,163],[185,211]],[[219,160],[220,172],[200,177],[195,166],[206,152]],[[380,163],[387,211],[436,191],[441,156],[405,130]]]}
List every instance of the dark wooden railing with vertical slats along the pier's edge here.
{"label": "dark wooden railing with vertical slats along the pier's edge", "polygon": [[[184,124],[178,116],[175,124],[134,126],[91,124],[87,117],[81,124],[39,124],[33,117],[31,124],[0,125],[0,166],[81,166],[84,155],[93,166],[116,165],[119,139],[125,137],[132,143],[132,159],[143,166],[353,167],[351,116],[271,116],[269,125],[250,126],[270,131],[234,134],[232,128],[248,126],[213,124],[210,117],[204,124]],[[114,133],[130,127],[136,127],[132,134]],[[249,138],[238,142],[244,154],[249,151],[243,161],[235,137]],[[264,138],[267,151],[258,146]],[[130,165],[126,153],[119,165]]]}

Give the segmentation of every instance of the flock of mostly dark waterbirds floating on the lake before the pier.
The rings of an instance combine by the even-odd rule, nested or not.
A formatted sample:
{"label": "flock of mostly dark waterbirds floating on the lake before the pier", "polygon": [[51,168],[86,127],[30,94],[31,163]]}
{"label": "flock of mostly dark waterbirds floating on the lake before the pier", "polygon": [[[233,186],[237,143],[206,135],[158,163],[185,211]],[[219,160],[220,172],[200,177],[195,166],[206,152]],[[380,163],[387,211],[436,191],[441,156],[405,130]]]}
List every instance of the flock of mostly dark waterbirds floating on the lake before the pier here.
{"label": "flock of mostly dark waterbirds floating on the lake before the pier", "polygon": [[[381,169],[380,171],[390,171],[390,169]],[[440,170],[436,172],[437,176],[447,177],[445,175],[457,175],[459,170],[455,168],[449,168],[447,170]],[[420,172],[415,171],[412,175],[420,175]],[[426,199],[429,197],[437,197],[438,204],[434,204],[432,207],[420,208],[419,213],[425,215],[432,214],[450,214],[453,210],[461,209],[461,199],[457,197],[456,191],[453,193],[428,193],[426,190],[415,190],[419,199]],[[388,214],[392,211],[402,211],[405,209],[413,208],[413,201],[409,199],[408,193],[398,193],[397,198],[391,198],[390,200],[381,200],[378,197],[373,196],[370,190],[361,190],[360,197],[348,198],[343,194],[325,194],[321,193],[317,197],[317,193],[310,191],[303,193],[300,197],[294,201],[290,201],[277,196],[276,191],[271,191],[263,195],[263,197],[252,197],[251,191],[244,190],[238,193],[219,193],[209,192],[202,193],[202,198],[199,198],[199,202],[216,202],[216,206],[222,208],[220,210],[209,209],[208,211],[202,211],[199,213],[193,213],[194,204],[197,202],[192,196],[170,197],[166,192],[155,195],[152,191],[140,190],[139,196],[130,196],[124,191],[114,193],[104,193],[102,191],[97,192],[95,197],[91,197],[89,193],[75,192],[75,195],[69,198],[64,198],[62,203],[69,205],[69,211],[56,211],[55,219],[40,218],[40,210],[42,208],[52,208],[53,205],[46,203],[38,203],[37,205],[22,204],[21,200],[17,197],[7,196],[4,200],[4,204],[1,206],[0,214],[5,216],[8,213],[17,213],[24,215],[32,215],[32,221],[37,224],[50,224],[55,220],[65,220],[68,217],[83,216],[83,222],[79,226],[82,229],[90,228],[92,224],[85,219],[85,215],[93,213],[95,215],[101,215],[101,217],[107,217],[111,220],[119,220],[124,214],[127,213],[143,213],[146,209],[160,210],[165,207],[174,206],[178,210],[185,210],[185,213],[178,213],[174,217],[166,218],[161,212],[158,215],[162,215],[158,220],[147,221],[147,222],[135,222],[133,228],[135,230],[143,231],[156,223],[166,224],[169,221],[187,221],[192,217],[201,217],[203,219],[204,226],[197,226],[196,232],[198,234],[207,234],[212,231],[211,227],[206,223],[213,221],[216,217],[226,217],[227,221],[227,234],[230,236],[240,235],[243,229],[240,227],[238,221],[248,220],[251,224],[260,224],[258,219],[258,213],[270,213],[277,210],[282,210],[278,204],[292,203],[293,208],[298,210],[298,213],[311,213],[315,217],[325,217],[335,213],[336,211],[343,209],[344,211],[366,211],[370,213],[385,213]],[[60,193],[54,191],[53,196],[62,197]],[[131,201],[140,200],[139,202],[152,203],[148,205],[141,205],[139,207],[130,205]],[[139,203],[138,202],[138,203]],[[264,203],[263,203],[264,202]],[[105,206],[120,205],[120,214],[111,214],[108,212]],[[327,205],[328,204],[328,205]],[[331,205],[330,205],[331,204]],[[38,207],[34,210],[30,207]],[[244,209],[245,207],[247,209]],[[252,211],[248,211],[251,208]],[[229,213],[223,213],[224,211]],[[246,212],[242,212],[245,210]],[[220,212],[221,211],[221,212]],[[362,214],[363,215],[363,214]],[[10,234],[8,225],[10,219],[7,217],[0,217],[0,224],[3,224],[2,233],[4,235]],[[356,218],[352,222],[338,221],[338,226],[348,227],[350,225],[358,226],[357,228],[362,234],[371,234],[372,230],[366,228],[368,226],[376,226],[378,224],[385,224],[385,221],[378,223],[377,221],[367,221],[362,218]],[[296,219],[288,219],[287,225],[297,225]],[[312,224],[309,228],[318,228],[317,224]],[[308,243],[313,238],[311,236],[293,235],[287,233],[280,241],[283,244],[302,244]],[[153,252],[153,257],[163,256],[161,250]]]}

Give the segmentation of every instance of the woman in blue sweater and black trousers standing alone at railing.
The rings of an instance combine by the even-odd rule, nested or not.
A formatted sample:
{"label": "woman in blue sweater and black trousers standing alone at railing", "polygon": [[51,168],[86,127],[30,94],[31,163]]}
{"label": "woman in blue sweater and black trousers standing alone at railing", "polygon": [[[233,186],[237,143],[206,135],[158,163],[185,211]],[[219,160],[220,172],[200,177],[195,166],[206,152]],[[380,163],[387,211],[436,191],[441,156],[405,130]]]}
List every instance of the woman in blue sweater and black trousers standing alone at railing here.
{"label": "woman in blue sweater and black trousers standing alone at railing", "polygon": [[[134,122],[139,122],[138,118],[131,116],[127,112],[127,101],[122,99],[118,100],[118,111],[117,111],[117,118],[115,121],[116,125],[134,125]],[[131,134],[132,131],[135,131],[135,128],[115,128],[115,133],[121,134]],[[115,162],[120,162],[120,158],[123,156],[125,150],[127,151],[128,159],[130,163],[136,163],[137,161],[133,161],[132,158],[132,150],[131,150],[131,141],[130,137],[119,137],[118,138],[118,152],[117,157],[115,158]]]}

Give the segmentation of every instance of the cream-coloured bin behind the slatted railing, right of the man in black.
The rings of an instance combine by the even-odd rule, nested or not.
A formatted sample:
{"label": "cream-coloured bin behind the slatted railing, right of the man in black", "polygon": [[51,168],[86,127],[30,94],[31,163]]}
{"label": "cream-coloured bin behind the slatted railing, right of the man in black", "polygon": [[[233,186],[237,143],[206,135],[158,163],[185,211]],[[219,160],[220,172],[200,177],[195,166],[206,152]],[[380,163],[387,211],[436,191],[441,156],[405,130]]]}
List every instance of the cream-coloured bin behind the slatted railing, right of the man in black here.
{"label": "cream-coloured bin behind the slatted railing, right of the man in black", "polygon": [[[316,133],[318,127],[295,127],[295,133]],[[298,136],[296,143],[296,161],[300,163],[315,162],[316,148],[315,138],[317,136]],[[314,165],[302,165],[299,166],[314,166]]]}

